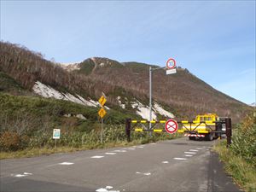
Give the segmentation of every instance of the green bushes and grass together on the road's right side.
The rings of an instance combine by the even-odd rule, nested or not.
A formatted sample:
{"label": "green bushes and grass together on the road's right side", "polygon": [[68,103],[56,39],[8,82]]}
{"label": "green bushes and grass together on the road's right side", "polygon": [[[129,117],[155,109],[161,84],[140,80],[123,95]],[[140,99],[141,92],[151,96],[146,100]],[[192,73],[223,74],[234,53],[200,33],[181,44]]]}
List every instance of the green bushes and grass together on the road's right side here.
{"label": "green bushes and grass together on the road's right side", "polygon": [[247,192],[256,191],[256,117],[247,115],[233,130],[232,144],[226,142],[214,147],[220,160],[224,161],[226,172]]}

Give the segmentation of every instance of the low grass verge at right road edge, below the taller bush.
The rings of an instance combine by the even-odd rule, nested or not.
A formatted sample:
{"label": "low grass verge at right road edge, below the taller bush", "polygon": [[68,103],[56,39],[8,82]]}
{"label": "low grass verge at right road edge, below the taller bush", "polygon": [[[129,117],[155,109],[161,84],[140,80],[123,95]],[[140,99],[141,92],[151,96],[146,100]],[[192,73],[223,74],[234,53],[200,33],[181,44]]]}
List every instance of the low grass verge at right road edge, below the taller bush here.
{"label": "low grass verge at right road edge, below the taller bush", "polygon": [[224,162],[225,171],[233,177],[241,189],[247,192],[255,192],[255,166],[248,163],[241,156],[234,154],[230,148],[226,148],[226,142],[218,143],[213,149],[219,154],[220,160]]}

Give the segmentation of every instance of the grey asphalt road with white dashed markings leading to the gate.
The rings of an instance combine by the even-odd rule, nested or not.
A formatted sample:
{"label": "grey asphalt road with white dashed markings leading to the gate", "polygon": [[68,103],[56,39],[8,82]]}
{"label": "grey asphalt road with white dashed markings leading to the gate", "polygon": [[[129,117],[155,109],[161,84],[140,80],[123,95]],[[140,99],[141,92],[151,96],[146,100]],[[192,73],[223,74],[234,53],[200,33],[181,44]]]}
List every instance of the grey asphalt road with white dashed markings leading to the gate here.
{"label": "grey asphalt road with white dashed markings leading to the gate", "polygon": [[[240,191],[216,142],[181,138],[131,148],[1,160],[1,191]],[[107,153],[107,154],[106,154]]]}

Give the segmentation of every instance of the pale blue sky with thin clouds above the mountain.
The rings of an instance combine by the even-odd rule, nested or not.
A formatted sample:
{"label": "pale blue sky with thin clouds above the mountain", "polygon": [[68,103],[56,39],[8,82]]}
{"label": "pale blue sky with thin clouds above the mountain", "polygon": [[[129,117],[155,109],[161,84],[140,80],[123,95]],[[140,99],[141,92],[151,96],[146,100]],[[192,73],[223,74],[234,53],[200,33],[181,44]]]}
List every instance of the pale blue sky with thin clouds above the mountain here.
{"label": "pale blue sky with thin clouds above the mountain", "polygon": [[247,104],[255,92],[255,1],[3,1],[2,41],[61,63],[93,56],[177,66]]}

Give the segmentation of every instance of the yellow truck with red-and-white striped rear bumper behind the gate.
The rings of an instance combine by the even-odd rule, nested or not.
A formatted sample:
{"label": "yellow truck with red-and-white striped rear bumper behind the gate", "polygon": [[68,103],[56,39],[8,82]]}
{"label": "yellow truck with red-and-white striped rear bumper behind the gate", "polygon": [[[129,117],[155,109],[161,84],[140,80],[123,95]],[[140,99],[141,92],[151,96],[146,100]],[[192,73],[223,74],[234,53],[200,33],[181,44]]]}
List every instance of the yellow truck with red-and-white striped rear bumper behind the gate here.
{"label": "yellow truck with red-and-white striped rear bumper behind the gate", "polygon": [[221,133],[225,131],[223,119],[219,118],[216,113],[199,114],[191,122],[181,121],[183,126],[178,132],[183,132],[184,136],[189,137],[189,140],[205,138],[212,141],[214,138],[221,137]]}

